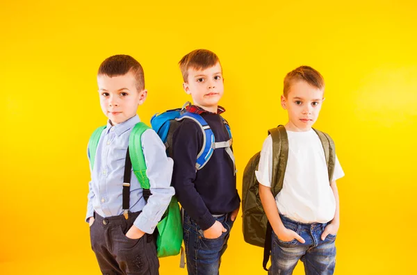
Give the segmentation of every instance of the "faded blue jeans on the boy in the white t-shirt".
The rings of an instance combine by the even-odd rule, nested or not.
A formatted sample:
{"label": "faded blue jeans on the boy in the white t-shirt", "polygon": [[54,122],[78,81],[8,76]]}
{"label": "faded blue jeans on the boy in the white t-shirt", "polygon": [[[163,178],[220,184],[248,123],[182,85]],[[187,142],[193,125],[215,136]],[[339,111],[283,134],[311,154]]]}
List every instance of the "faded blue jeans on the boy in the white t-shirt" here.
{"label": "faded blue jeans on the boy in the white t-shirt", "polygon": [[270,271],[268,274],[293,274],[298,260],[304,263],[306,275],[327,275],[334,273],[336,235],[327,235],[321,240],[321,235],[327,224],[302,224],[287,217],[281,216],[282,223],[288,229],[295,231],[306,242],[302,244],[297,240],[284,242],[278,239],[272,231],[272,251]]}

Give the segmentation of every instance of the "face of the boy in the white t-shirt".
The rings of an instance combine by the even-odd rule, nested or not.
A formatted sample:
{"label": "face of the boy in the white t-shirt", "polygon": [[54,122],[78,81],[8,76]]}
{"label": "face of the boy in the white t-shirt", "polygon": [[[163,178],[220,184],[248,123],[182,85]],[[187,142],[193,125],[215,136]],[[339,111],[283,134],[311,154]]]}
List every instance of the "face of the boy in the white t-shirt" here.
{"label": "face of the boy in the white t-shirt", "polygon": [[291,84],[287,97],[281,96],[281,106],[288,111],[288,131],[309,131],[318,119],[324,91],[305,81]]}

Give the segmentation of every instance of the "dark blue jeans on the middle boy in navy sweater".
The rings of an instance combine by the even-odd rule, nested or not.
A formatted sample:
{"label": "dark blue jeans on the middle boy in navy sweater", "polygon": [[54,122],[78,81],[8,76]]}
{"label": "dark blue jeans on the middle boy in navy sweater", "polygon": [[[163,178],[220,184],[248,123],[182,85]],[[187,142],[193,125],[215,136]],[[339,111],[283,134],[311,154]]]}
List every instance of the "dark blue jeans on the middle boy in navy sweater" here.
{"label": "dark blue jeans on the middle boy in navy sweater", "polygon": [[193,219],[184,213],[183,234],[186,247],[187,271],[190,275],[217,275],[219,274],[220,258],[227,249],[230,230],[233,223],[230,213],[216,217],[227,232],[223,232],[217,239],[206,239],[203,231]]}

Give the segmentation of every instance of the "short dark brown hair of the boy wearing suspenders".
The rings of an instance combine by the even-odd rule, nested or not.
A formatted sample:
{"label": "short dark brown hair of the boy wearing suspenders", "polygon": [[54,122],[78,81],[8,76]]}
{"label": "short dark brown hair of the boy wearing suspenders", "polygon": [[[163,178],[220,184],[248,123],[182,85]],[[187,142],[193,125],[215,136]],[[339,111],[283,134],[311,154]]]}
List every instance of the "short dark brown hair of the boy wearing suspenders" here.
{"label": "short dark brown hair of the boy wearing suspenders", "polygon": [[138,61],[124,54],[118,54],[106,58],[99,67],[97,75],[102,76],[123,76],[128,72],[132,72],[136,78],[136,88],[138,92],[145,89],[145,76],[143,74],[143,68]]}

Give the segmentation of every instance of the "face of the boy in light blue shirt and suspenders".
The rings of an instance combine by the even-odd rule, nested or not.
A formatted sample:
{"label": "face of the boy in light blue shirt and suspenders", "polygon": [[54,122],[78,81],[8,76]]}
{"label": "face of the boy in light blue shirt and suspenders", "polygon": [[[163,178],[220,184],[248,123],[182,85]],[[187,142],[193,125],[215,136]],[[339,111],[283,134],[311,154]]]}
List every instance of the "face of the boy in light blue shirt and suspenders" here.
{"label": "face of the boy in light blue shirt and suspenders", "polygon": [[147,96],[147,90],[138,91],[131,72],[122,76],[97,76],[100,105],[112,125],[125,122],[136,115],[138,106]]}

